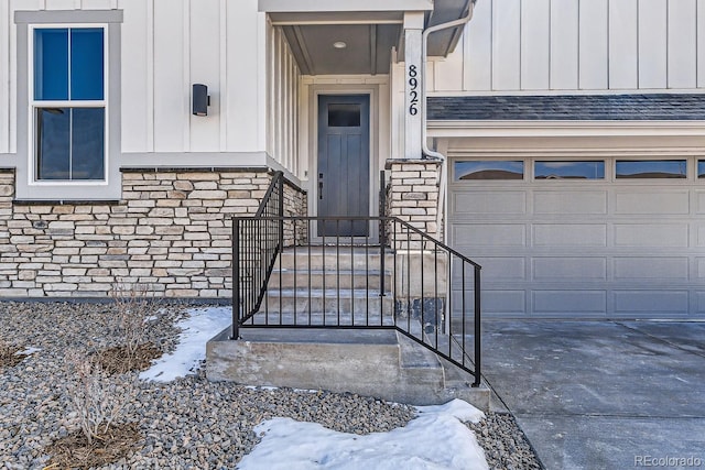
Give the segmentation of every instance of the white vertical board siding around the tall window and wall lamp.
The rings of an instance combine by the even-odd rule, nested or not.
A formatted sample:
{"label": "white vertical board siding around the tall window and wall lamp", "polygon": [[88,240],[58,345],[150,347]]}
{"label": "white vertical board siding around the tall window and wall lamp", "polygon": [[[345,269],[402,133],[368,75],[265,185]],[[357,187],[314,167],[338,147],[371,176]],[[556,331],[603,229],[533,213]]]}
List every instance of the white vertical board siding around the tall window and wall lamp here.
{"label": "white vertical board siding around the tall window and wall lamp", "polygon": [[[106,9],[123,11],[123,154],[269,151],[295,171],[300,74],[257,0],[0,1],[0,154],[17,152],[14,12]],[[207,117],[192,114],[193,84],[208,86]]]}

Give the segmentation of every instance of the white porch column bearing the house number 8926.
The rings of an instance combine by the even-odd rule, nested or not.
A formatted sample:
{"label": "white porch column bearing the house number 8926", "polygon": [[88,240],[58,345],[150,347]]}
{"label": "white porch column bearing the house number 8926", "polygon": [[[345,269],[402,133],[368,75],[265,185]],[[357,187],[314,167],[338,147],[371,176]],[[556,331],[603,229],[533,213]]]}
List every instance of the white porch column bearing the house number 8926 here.
{"label": "white porch column bearing the house number 8926", "polygon": [[421,159],[421,36],[423,12],[404,14],[404,157]]}

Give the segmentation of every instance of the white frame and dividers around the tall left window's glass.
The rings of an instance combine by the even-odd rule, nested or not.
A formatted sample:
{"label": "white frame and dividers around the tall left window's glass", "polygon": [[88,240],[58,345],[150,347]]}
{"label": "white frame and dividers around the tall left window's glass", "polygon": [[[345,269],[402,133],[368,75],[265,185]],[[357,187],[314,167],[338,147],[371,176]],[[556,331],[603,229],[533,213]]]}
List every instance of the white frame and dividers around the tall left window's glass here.
{"label": "white frame and dividers around the tall left window's glass", "polygon": [[[102,30],[102,100],[36,100],[34,98],[34,51],[35,51],[35,30],[77,30],[77,29],[101,29]],[[70,51],[70,33],[68,34],[68,48]],[[110,63],[109,56],[109,35],[107,23],[54,23],[54,24],[30,24],[28,28],[28,89],[29,89],[29,110],[28,110],[28,149],[29,162],[28,162],[28,185],[29,186],[107,186],[108,168],[109,168],[109,146],[110,142],[110,119],[109,119],[109,86],[110,74],[108,64]],[[70,57],[70,54],[69,54]],[[68,64],[68,87],[70,89],[70,63]],[[102,140],[102,179],[39,179],[36,174],[37,165],[37,125],[36,125],[36,110],[37,108],[104,108],[104,140]]]}

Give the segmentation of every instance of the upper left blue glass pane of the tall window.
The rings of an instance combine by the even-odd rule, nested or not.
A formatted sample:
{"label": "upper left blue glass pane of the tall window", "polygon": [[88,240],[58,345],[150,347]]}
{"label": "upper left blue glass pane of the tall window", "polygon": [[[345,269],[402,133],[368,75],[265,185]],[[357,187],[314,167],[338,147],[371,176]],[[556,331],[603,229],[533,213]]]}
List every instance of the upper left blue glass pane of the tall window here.
{"label": "upper left blue glass pane of the tall window", "polygon": [[34,30],[34,99],[68,99],[68,30]]}

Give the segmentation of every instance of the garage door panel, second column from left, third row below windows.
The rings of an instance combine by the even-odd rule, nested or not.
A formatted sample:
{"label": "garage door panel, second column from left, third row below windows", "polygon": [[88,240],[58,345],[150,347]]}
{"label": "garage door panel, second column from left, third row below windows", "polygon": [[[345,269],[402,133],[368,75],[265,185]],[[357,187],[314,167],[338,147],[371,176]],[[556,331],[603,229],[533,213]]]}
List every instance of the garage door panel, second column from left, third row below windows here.
{"label": "garage door panel, second column from left, third row below windows", "polygon": [[534,281],[607,280],[607,259],[605,258],[534,258],[532,265]]}

